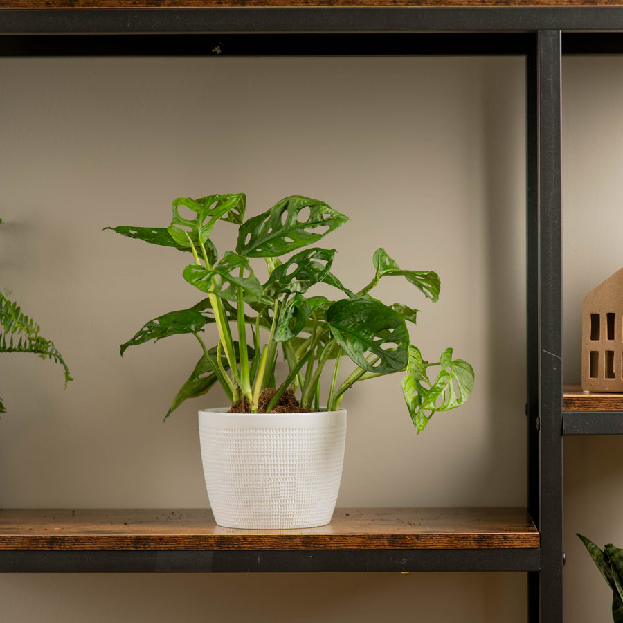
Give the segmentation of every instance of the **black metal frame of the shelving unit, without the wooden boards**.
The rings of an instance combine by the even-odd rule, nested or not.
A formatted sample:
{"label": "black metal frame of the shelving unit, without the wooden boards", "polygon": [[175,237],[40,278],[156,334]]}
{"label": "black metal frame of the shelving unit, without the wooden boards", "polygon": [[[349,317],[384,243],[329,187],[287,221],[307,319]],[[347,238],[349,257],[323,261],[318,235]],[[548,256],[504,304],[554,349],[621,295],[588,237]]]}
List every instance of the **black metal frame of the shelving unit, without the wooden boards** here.
{"label": "black metal frame of the shelving unit, without the wooden boards", "polygon": [[[561,53],[623,53],[613,30],[622,7],[0,10],[0,56],[525,55],[528,506],[541,534],[541,550],[1,552],[0,570],[517,570],[530,620],[562,623]],[[603,422],[566,414],[564,432],[623,433]]]}

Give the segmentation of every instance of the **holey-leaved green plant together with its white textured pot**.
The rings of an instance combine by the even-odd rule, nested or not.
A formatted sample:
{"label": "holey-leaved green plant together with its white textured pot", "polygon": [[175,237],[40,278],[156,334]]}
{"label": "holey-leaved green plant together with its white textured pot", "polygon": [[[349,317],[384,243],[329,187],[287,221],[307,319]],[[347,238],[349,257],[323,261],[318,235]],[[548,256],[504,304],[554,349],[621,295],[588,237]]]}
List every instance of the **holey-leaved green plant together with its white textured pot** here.
{"label": "holey-leaved green plant together with its white textured pot", "polygon": [[[173,202],[166,228],[109,228],[191,253],[183,278],[204,294],[188,309],[150,320],[121,345],[121,354],[174,334],[195,337],[199,361],[165,417],[216,383],[231,403],[199,412],[206,486],[217,523],[323,525],[332,516],[341,478],[345,392],[356,382],[404,372],[402,390],[419,433],[435,411],[464,403],[473,370],[453,359],[451,348],[436,363],[425,361],[407,329],[417,310],[402,303],[385,305],[370,295],[381,278],[399,276],[434,301],[440,291],[436,273],[401,269],[377,249],[372,279],[352,291],[332,273],[335,249],[315,246],[347,217],[323,201],[300,196],[286,197],[246,220],[245,210],[242,193],[182,197]],[[235,251],[217,253],[211,236],[217,222],[237,226]],[[251,264],[258,260],[267,271],[263,282]],[[311,295],[320,284],[336,296]],[[212,347],[201,336],[210,324],[218,334]],[[279,350],[287,363],[283,378],[276,374]],[[343,359],[352,362],[346,372]],[[433,366],[439,371],[431,381],[428,368]],[[323,375],[329,381],[326,389],[320,383]],[[265,480],[260,471],[266,471]],[[240,489],[246,489],[246,498]]]}

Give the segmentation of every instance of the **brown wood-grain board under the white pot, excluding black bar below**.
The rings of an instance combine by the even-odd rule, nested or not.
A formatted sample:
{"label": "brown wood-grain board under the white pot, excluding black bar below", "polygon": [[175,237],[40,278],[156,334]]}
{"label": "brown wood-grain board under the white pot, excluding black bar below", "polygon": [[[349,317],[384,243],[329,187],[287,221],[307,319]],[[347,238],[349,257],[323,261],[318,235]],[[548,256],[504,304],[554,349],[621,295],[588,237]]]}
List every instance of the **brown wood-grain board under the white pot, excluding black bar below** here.
{"label": "brown wood-grain board under the white pot, excluding black bar below", "polygon": [[3,509],[0,550],[538,548],[525,509],[338,509],[305,530],[232,530],[208,509]]}

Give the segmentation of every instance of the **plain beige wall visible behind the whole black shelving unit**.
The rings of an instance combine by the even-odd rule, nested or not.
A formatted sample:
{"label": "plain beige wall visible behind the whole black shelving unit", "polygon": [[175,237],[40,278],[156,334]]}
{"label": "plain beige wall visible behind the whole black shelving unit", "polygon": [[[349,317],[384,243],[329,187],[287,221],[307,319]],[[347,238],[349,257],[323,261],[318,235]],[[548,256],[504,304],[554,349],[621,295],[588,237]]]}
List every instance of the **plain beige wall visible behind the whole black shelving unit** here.
{"label": "plain beige wall visible behind the whole black shelving unit", "polygon": [[[611,73],[623,65],[610,61],[593,76],[597,62],[582,62],[566,66],[581,134],[566,116],[566,173],[575,168],[566,179],[577,188],[566,186],[565,209],[579,213],[586,208],[579,197],[599,186],[599,209],[614,219],[616,156],[596,165],[602,143],[589,127],[601,128],[616,149],[623,125]],[[580,105],[590,100],[587,77],[595,90],[611,89],[610,99]],[[146,320],[198,300],[180,276],[187,258],[102,228],[164,226],[175,197],[241,190],[250,214],[298,193],[350,216],[326,240],[338,249],[335,272],[353,287],[370,278],[378,246],[403,267],[437,270],[438,303],[400,280],[378,294],[422,309],[413,341],[425,356],[452,345],[476,368],[469,404],[435,416],[422,435],[410,424],[398,377],[347,396],[338,503],[524,505],[523,79],[518,58],[1,60],[0,285],[53,338],[75,377],[63,391],[53,364],[0,359],[9,410],[0,420],[1,505],[206,505],[195,411],[217,406],[222,395],[162,421],[199,356],[195,344],[181,336],[118,354]],[[616,246],[606,253],[585,244],[586,227],[568,231],[571,220],[565,268],[581,298],[623,262]],[[569,240],[587,248],[570,253]],[[225,249],[231,236],[219,235],[217,244]],[[571,356],[575,298],[567,289],[571,379],[579,374]],[[566,525],[600,543],[623,542],[623,534],[615,520],[597,525],[584,510],[592,500],[586,476],[599,476],[599,487],[623,484],[618,443],[566,442]],[[581,469],[586,461],[589,470]],[[597,572],[572,546],[568,604],[602,605],[608,599]],[[584,581],[595,585],[589,594]],[[526,620],[525,586],[523,574],[5,575],[0,600],[8,620],[28,623],[191,622],[204,620],[204,611],[228,622],[413,614],[431,623],[518,623]]]}

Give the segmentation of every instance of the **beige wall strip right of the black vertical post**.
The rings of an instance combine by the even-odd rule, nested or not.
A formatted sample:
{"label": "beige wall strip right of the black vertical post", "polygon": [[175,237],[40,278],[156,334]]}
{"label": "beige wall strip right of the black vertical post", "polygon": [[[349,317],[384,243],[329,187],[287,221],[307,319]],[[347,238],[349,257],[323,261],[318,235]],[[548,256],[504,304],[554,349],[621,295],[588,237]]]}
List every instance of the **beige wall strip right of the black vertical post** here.
{"label": "beige wall strip right of the black vertical post", "polygon": [[[563,76],[564,377],[579,383],[582,297],[623,267],[623,60],[568,58]],[[623,439],[564,449],[565,622],[611,621],[612,593],[575,534],[623,547]]]}

